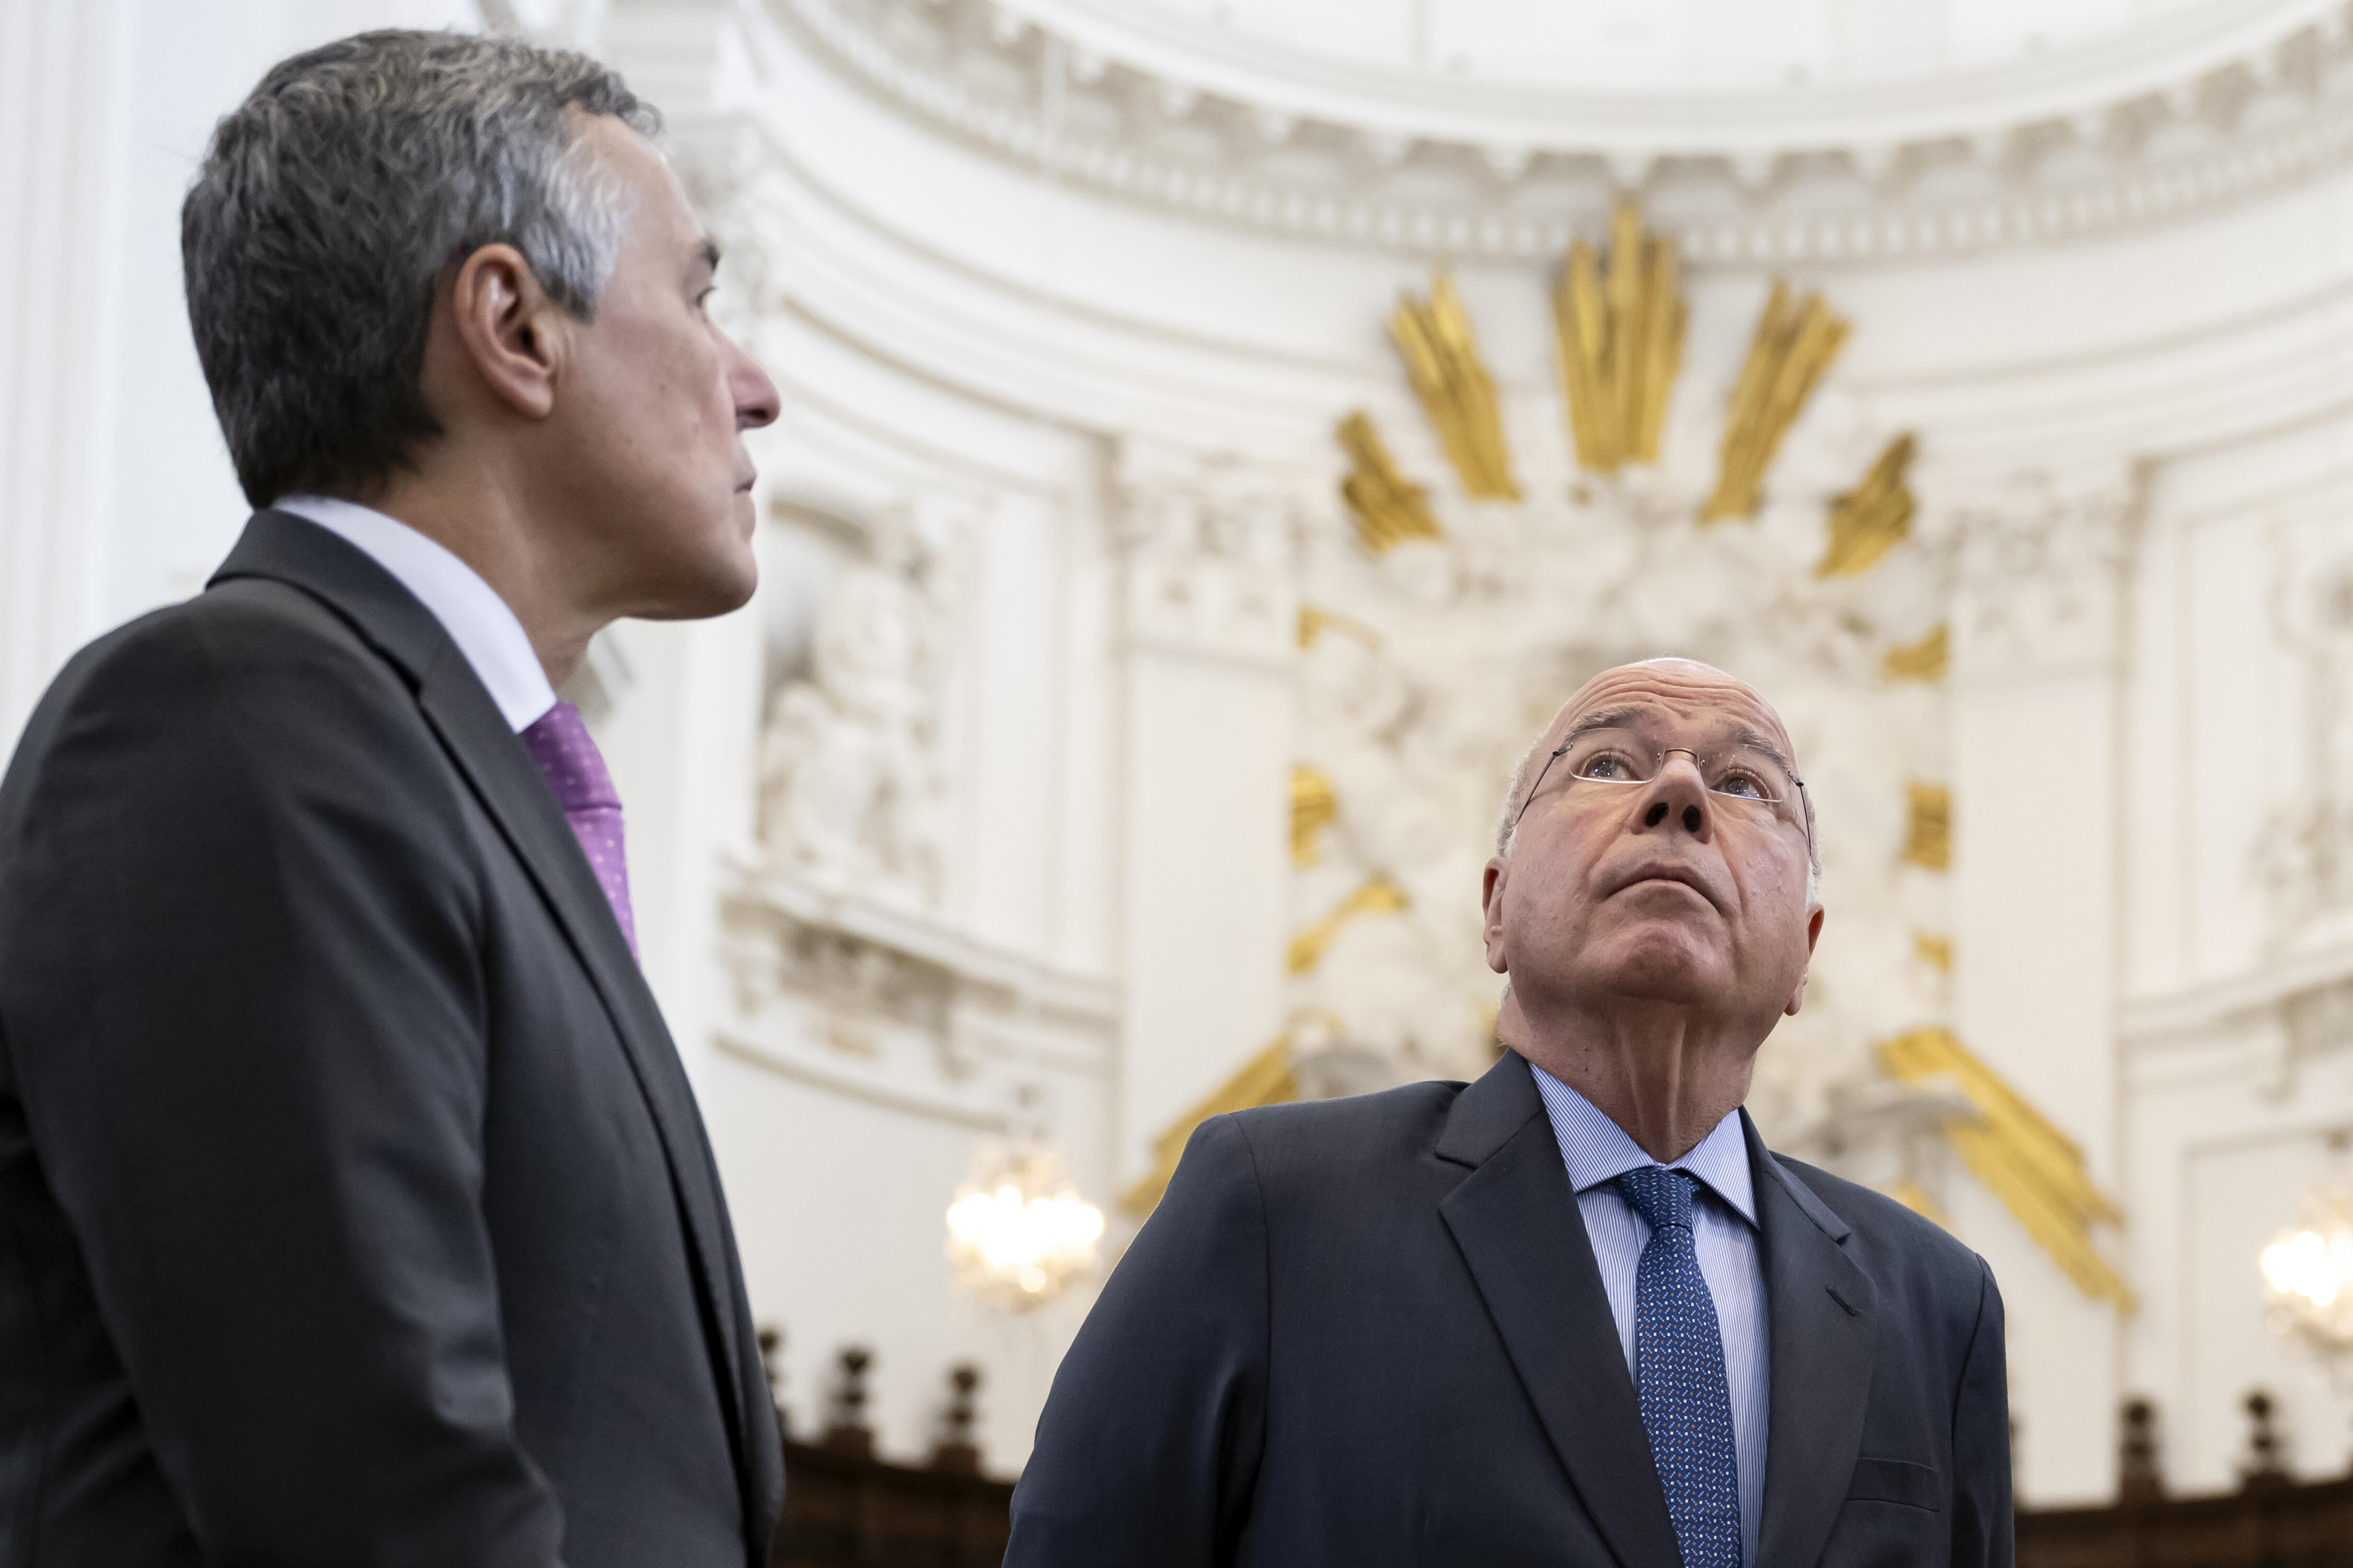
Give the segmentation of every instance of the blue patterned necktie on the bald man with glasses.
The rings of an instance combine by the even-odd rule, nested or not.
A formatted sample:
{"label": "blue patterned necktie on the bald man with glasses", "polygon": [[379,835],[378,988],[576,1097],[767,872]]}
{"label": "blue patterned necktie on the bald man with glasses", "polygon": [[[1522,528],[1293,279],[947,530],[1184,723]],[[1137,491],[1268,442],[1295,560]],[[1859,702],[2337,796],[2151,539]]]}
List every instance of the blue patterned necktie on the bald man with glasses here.
{"label": "blue patterned necktie on the bald man with glasses", "polygon": [[1633,1363],[1682,1568],[1741,1568],[1741,1474],[1715,1298],[1692,1248],[1692,1180],[1649,1166],[1619,1192],[1649,1225],[1633,1274]]}

